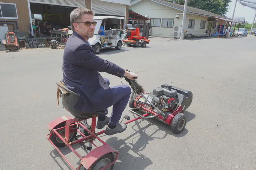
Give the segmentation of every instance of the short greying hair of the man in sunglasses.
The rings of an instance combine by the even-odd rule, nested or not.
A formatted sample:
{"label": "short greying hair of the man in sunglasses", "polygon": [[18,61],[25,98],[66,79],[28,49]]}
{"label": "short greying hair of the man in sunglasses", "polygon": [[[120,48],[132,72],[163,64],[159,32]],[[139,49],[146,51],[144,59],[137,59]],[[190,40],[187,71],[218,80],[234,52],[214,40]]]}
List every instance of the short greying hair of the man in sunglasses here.
{"label": "short greying hair of the man in sunglasses", "polygon": [[79,7],[74,9],[71,13],[70,13],[70,22],[71,22],[71,28],[72,31],[75,31],[75,28],[73,26],[74,22],[77,22],[77,20],[81,19],[83,14],[91,14],[92,16],[94,16],[94,12],[90,9],[84,8],[84,7]]}

